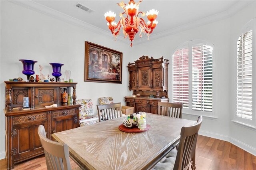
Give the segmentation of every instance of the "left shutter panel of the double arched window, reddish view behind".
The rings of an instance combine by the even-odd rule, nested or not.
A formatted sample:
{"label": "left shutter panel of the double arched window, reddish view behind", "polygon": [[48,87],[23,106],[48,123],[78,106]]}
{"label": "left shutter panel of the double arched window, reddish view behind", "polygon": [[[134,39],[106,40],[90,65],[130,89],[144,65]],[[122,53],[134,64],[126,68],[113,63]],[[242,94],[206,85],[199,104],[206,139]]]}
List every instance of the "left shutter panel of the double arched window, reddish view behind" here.
{"label": "left shutter panel of the double arched window, reddish view behind", "polygon": [[172,59],[173,102],[188,108],[188,48],[178,49]]}

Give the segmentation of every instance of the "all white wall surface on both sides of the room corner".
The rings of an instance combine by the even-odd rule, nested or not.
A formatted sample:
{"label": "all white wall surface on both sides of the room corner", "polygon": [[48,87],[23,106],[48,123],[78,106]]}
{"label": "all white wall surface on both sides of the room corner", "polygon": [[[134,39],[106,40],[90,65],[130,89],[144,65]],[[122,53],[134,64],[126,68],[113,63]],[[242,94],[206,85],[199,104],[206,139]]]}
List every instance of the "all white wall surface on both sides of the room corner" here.
{"label": "all white wall surface on both sides of the room corner", "polygon": [[[255,2],[236,16],[193,28],[178,34],[166,36],[154,41],[136,44],[132,48],[129,43],[113,41],[112,38],[101,36],[78,26],[68,24],[50,16],[20,7],[11,2],[1,1],[1,56],[0,56],[0,159],[4,158],[4,81],[15,77],[26,76],[21,73],[22,63],[18,59],[38,61],[35,71],[39,73],[39,64],[44,67],[43,73],[52,73],[51,62],[64,63],[64,70],[72,70],[72,79],[78,82],[77,99],[90,98],[98,103],[98,97],[112,96],[114,101],[124,103],[124,96],[131,95],[128,91],[128,71],[126,65],[136,61],[142,55],[158,58],[171,56],[178,45],[189,40],[206,40],[215,45],[214,51],[214,113],[217,118],[204,117],[200,134],[231,141],[234,144],[255,154],[255,130],[240,127],[231,122],[234,109],[230,90],[234,83],[234,70],[230,59],[234,56],[231,47],[234,35],[242,28],[249,18],[255,17]],[[15,12],[14,12],[15,11]],[[244,22],[236,22],[236,17],[245,17]],[[236,39],[236,38],[235,38]],[[123,52],[122,84],[84,82],[84,42],[89,41]],[[231,50],[232,49],[232,50]],[[230,65],[227,65],[230,63]],[[169,97],[171,97],[171,64],[169,65]],[[96,113],[96,108],[94,108]],[[184,115],[185,119],[196,120],[197,116]],[[255,154],[256,155],[256,154]]]}

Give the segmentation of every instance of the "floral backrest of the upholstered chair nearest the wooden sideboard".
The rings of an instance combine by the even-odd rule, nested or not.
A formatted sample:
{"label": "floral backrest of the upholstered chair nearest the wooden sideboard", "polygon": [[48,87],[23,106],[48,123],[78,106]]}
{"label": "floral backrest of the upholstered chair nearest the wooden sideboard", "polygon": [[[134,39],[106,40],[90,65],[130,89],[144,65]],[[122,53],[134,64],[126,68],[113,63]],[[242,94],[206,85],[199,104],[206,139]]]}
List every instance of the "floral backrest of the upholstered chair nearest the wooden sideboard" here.
{"label": "floral backrest of the upholstered chair nearest the wooden sideboard", "polygon": [[76,99],[76,104],[80,104],[79,117],[93,115],[92,99]]}

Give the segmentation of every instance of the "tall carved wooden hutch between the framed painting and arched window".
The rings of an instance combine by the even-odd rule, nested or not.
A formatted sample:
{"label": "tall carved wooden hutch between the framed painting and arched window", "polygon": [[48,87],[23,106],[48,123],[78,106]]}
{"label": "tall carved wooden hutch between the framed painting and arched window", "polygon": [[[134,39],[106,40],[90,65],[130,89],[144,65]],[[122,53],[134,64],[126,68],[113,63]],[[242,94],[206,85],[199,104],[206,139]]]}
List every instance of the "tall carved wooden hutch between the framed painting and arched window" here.
{"label": "tall carved wooden hutch between the framed painting and arched window", "polygon": [[158,113],[158,102],[168,99],[168,59],[142,56],[128,64],[129,90],[132,95],[124,97],[126,105],[134,107],[134,112]]}

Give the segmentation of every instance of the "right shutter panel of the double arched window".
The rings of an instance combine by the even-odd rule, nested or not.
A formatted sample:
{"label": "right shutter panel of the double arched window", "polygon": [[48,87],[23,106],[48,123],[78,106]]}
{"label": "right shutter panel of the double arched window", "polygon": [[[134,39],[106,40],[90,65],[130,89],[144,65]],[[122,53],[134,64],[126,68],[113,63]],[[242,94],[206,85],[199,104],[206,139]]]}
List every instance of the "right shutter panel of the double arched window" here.
{"label": "right shutter panel of the double arched window", "polygon": [[192,47],[192,110],[212,111],[212,47]]}

